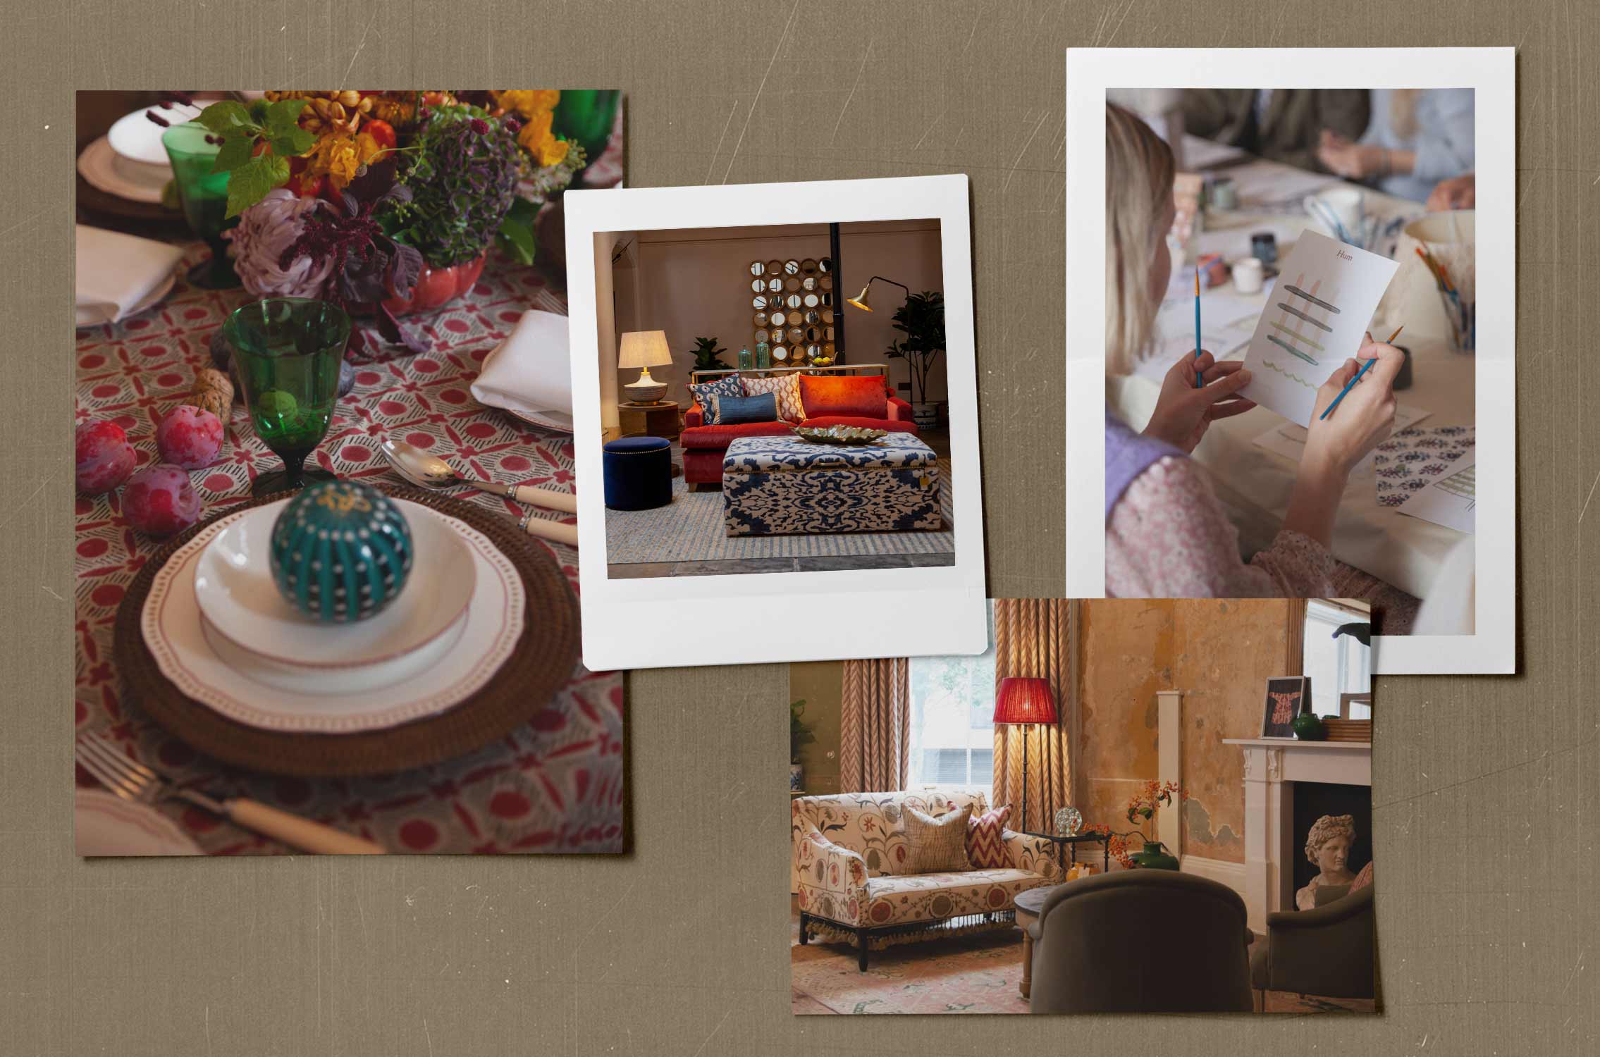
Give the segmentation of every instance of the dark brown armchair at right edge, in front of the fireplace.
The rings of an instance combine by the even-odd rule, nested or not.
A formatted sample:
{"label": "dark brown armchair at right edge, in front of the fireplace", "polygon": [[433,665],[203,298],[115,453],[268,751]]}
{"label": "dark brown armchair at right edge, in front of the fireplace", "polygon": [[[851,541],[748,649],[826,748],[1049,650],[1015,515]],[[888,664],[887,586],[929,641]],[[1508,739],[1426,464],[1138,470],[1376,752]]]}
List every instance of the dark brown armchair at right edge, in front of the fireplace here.
{"label": "dark brown armchair at right edge, in front of the fireplace", "polygon": [[1250,955],[1258,1009],[1266,991],[1374,998],[1373,886],[1314,889],[1310,910],[1267,915],[1267,939]]}

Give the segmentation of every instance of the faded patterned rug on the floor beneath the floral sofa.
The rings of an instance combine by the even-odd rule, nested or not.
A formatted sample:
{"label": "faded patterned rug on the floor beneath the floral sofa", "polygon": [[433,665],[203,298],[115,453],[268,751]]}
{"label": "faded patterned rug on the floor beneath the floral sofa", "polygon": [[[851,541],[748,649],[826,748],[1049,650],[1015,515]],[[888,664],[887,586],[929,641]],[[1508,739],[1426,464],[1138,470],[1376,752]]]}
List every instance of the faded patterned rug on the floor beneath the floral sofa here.
{"label": "faded patterned rug on the floor beneath the floral sofa", "polygon": [[[872,951],[867,971],[856,951],[837,943],[800,947],[798,924],[790,953],[792,1012],[805,1014],[931,1014],[1027,1012],[1018,993],[1022,980],[1022,934],[906,943]],[[1371,999],[1317,998],[1267,991],[1266,1012],[1373,1012]]]}

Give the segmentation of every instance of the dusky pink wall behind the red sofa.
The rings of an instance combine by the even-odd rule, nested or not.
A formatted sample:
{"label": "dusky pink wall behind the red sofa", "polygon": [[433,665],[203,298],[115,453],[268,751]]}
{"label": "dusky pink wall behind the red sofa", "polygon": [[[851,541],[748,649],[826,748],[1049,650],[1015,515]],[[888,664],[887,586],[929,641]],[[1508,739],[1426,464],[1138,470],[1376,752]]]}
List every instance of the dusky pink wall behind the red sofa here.
{"label": "dusky pink wall behind the red sofa", "polygon": [[[699,336],[717,337],[736,366],[739,347],[755,352],[755,309],[750,307],[750,262],[829,256],[826,224],[782,227],[722,227],[637,232],[618,237],[629,245],[614,265],[616,331],[661,329],[674,363],[653,368],[651,376],[672,382],[669,398],[685,400],[683,382],[694,363],[691,349]],[[845,305],[874,275],[906,283],[914,291],[944,289],[938,221],[893,221],[840,225],[838,272],[834,294],[837,315],[846,328],[848,363],[885,363],[896,382],[909,379],[902,360],[886,360],[883,350],[898,336],[890,326],[904,301],[899,286],[872,285],[874,310]],[[835,323],[837,325],[837,323]],[[602,360],[605,361],[602,353]],[[610,363],[616,363],[614,353]],[[613,368],[614,373],[614,368]],[[622,371],[630,382],[635,371]],[[931,400],[946,398],[944,357],[928,377]],[[909,400],[909,393],[901,393]]]}

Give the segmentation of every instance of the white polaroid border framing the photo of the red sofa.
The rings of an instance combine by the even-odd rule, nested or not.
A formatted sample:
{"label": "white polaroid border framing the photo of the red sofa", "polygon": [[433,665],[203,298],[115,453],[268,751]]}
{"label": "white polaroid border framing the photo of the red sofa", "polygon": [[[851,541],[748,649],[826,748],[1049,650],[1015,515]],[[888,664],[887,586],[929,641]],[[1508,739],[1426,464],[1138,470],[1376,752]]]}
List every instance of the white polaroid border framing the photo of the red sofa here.
{"label": "white polaroid border framing the photo of the red sofa", "polygon": [[[981,654],[989,630],[966,176],[578,190],[563,201],[584,664],[606,670]],[[955,563],[611,579],[600,360],[616,363],[618,350],[600,349],[597,262],[610,261],[597,246],[610,245],[614,232],[915,219],[941,224],[950,409],[946,486],[952,488]],[[854,277],[843,278],[848,285]]]}

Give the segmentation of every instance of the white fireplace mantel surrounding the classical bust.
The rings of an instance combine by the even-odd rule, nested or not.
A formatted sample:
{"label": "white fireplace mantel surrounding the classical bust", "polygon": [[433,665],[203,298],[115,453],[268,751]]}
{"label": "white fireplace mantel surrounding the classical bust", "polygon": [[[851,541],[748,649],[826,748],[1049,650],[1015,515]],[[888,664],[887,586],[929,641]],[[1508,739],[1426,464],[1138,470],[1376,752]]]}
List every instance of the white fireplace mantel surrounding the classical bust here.
{"label": "white fireplace mantel surrounding the classical bust", "polygon": [[1294,905],[1294,782],[1371,785],[1371,742],[1226,737],[1245,753],[1245,907],[1250,927]]}

